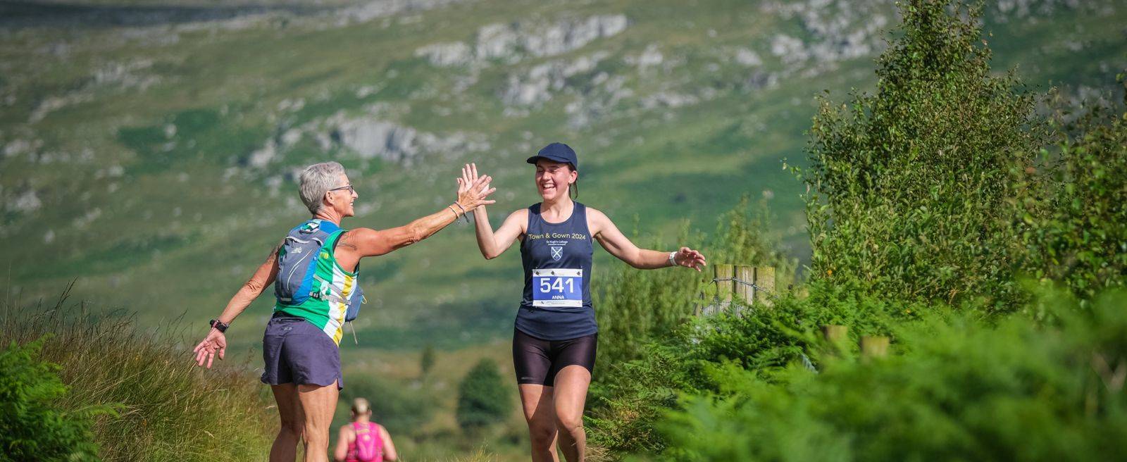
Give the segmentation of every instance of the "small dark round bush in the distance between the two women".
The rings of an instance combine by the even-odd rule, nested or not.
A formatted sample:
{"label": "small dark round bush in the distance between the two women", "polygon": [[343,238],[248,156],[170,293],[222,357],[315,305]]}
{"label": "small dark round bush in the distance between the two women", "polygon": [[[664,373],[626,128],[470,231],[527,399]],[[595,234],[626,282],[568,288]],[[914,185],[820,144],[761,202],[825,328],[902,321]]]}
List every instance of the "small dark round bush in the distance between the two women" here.
{"label": "small dark round bush in the distance between the two women", "polygon": [[458,384],[458,425],[474,432],[504,420],[513,407],[508,390],[496,362],[478,362]]}

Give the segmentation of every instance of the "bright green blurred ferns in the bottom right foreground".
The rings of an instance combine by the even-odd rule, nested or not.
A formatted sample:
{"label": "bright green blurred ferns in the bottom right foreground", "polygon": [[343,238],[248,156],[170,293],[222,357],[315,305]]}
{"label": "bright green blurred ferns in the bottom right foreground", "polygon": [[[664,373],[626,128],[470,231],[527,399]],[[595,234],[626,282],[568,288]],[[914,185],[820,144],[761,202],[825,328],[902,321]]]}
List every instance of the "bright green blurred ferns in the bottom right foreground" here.
{"label": "bright green blurred ferns in the bottom right foreground", "polygon": [[663,459],[1106,459],[1127,437],[1125,302],[1051,301],[1062,322],[1050,327],[925,314],[897,328],[887,358],[791,366],[774,382],[713,368],[719,392],[672,414]]}

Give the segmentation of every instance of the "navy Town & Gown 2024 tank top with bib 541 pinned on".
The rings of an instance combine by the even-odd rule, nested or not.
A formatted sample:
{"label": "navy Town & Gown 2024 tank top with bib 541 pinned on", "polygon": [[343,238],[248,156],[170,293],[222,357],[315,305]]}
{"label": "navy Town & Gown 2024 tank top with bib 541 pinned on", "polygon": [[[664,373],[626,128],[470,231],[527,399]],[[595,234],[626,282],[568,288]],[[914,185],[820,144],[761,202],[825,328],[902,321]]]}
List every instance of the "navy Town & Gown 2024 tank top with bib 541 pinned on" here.
{"label": "navy Town & Gown 2024 tank top with bib 541 pinned on", "polygon": [[567,340],[598,331],[591,304],[591,256],[587,207],[576,202],[571,216],[549,223],[540,204],[529,207],[529,228],[521,242],[524,296],[516,328],[544,340]]}

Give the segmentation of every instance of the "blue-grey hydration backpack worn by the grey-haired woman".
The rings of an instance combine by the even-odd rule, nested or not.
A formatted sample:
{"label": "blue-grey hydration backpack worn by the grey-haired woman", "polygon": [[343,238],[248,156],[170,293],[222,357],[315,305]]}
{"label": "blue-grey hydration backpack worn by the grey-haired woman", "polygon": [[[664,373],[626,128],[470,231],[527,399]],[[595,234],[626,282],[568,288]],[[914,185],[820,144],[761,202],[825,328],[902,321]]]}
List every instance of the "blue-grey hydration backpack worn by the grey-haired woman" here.
{"label": "blue-grey hydration backpack worn by the grey-haired woman", "polygon": [[[287,305],[305,303],[310,296],[320,297],[313,292],[313,274],[317,273],[317,255],[336,234],[344,230],[327,220],[310,220],[290,230],[278,251],[278,275],[274,279],[274,296]],[[356,267],[360,274],[360,266]],[[360,314],[360,305],[364,303],[364,291],[358,283],[348,300],[345,310],[345,321],[352,321]]]}

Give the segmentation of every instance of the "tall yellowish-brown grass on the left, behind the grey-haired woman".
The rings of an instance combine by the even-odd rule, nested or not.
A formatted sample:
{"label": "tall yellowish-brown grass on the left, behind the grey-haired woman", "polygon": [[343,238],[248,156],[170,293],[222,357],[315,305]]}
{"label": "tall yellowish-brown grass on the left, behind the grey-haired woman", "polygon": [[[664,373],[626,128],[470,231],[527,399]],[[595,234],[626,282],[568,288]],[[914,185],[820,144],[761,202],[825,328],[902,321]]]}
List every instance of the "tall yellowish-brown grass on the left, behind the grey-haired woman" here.
{"label": "tall yellowish-brown grass on the left, behind the grey-haired woman", "polygon": [[[105,461],[265,460],[277,425],[246,362],[198,370],[176,323],[141,329],[125,311],[69,302],[5,301],[0,344],[43,340],[41,361],[61,365],[64,409],[113,405],[94,425]],[[197,334],[193,331],[193,334]]]}

